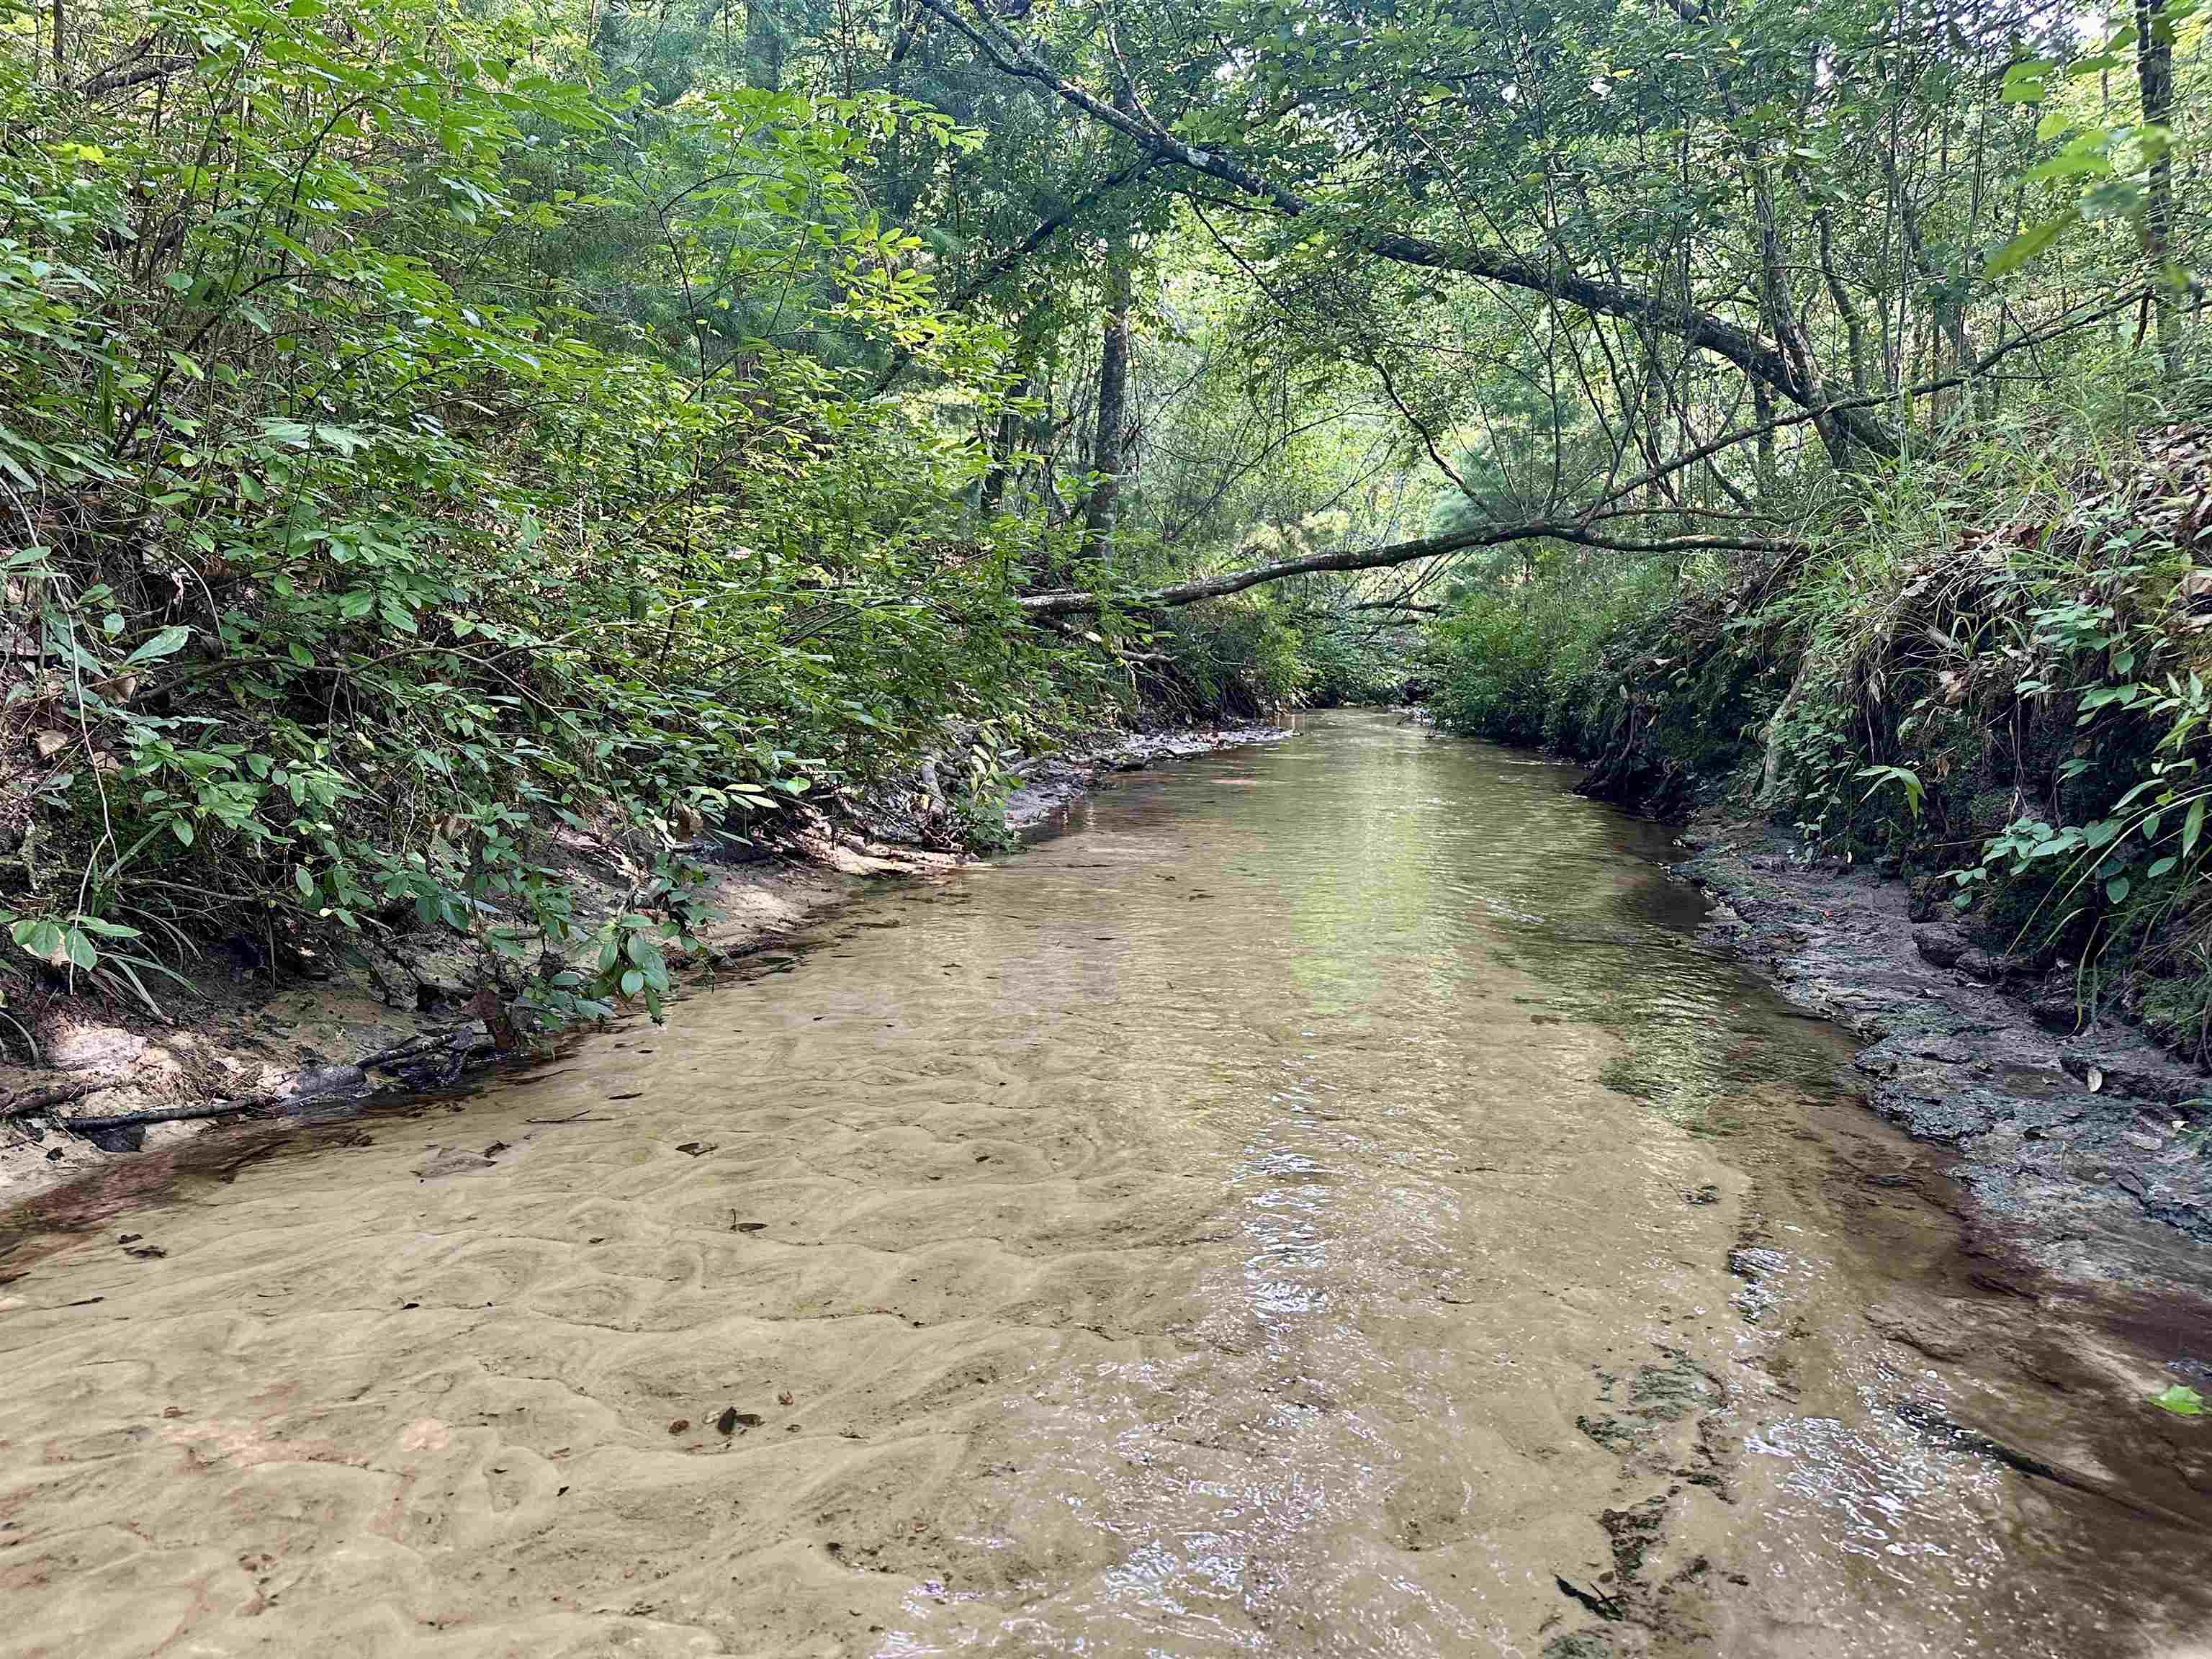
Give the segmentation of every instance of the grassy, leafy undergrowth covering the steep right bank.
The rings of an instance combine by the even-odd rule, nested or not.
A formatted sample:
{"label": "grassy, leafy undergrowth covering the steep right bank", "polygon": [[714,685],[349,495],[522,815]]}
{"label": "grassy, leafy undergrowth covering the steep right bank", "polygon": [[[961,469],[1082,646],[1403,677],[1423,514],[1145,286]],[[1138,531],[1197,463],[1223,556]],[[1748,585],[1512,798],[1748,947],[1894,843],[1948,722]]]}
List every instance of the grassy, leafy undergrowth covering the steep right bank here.
{"label": "grassy, leafy undergrowth covering the steep right bank", "polygon": [[[2212,434],[2093,369],[1858,480],[1801,546],[1455,595],[1449,730],[1590,761],[1593,787],[1732,799],[1807,856],[1913,883],[2022,975],[2212,1033]],[[2201,407],[2201,405],[2199,405]]]}

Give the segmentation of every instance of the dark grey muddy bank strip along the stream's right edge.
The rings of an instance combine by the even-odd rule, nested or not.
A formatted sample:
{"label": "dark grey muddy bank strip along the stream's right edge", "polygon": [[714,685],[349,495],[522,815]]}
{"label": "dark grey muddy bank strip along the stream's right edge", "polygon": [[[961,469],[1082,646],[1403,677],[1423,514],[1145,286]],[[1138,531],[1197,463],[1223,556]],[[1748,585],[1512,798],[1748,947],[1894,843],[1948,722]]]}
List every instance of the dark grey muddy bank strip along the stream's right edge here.
{"label": "dark grey muddy bank strip along the stream's right edge", "polygon": [[2042,1265],[2126,1276],[2143,1221],[2212,1243],[2201,1073],[2135,1031],[2073,1031],[2070,998],[2008,993],[2011,964],[1916,922],[1902,883],[1801,863],[1783,830],[1705,814],[1679,845],[1677,872],[1719,902],[1705,936],[1851,1031],[1874,1108],[1955,1148],[1958,1179]]}

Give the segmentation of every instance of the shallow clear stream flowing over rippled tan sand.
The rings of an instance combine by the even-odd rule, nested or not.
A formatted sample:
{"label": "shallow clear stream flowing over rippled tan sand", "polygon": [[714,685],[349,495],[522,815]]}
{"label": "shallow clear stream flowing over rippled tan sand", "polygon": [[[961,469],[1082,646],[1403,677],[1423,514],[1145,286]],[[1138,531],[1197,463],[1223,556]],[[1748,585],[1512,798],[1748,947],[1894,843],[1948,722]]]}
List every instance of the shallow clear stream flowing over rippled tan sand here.
{"label": "shallow clear stream flowing over rippled tan sand", "polygon": [[2212,1263],[2039,1276],[1568,781],[1323,717],[18,1214],[0,1652],[2212,1652]]}

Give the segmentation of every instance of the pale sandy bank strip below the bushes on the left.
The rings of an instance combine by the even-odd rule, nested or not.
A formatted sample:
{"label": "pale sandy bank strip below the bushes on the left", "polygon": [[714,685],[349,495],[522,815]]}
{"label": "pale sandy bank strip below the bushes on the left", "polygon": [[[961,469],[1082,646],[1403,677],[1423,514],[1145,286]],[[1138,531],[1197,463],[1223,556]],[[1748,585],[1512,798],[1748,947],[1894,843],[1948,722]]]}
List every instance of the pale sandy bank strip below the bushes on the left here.
{"label": "pale sandy bank strip below the bushes on the left", "polygon": [[[1121,772],[1285,734],[1265,723],[1110,734],[1029,763],[1006,825],[1046,830]],[[697,847],[719,920],[679,969],[712,975],[872,880],[953,869],[960,852],[949,841],[942,801],[916,783],[843,821],[812,814],[774,843]],[[608,916],[635,876],[597,847],[575,847],[568,872],[584,911]],[[372,1097],[449,1088],[515,1057],[487,1024],[471,949],[451,938],[405,936],[354,962],[303,958],[276,982],[210,951],[195,964],[192,995],[164,1011],[166,1022],[55,998],[35,1024],[42,1064],[0,1055],[0,1206],[223,1119],[327,1119]]]}

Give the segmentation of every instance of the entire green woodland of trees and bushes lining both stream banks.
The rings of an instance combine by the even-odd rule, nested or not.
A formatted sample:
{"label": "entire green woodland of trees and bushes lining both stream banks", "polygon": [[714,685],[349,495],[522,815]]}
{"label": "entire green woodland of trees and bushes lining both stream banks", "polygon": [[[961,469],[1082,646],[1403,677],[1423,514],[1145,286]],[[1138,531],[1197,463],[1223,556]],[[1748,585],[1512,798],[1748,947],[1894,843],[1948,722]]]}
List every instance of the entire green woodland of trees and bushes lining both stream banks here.
{"label": "entire green woodland of trees and bushes lining both stream banks", "polygon": [[4,18],[0,1044],[1409,690],[2203,1044],[2197,0]]}

